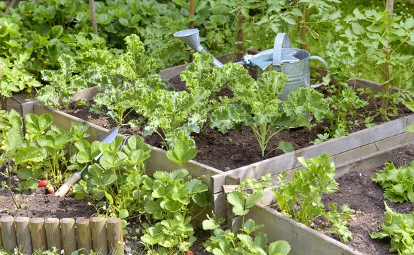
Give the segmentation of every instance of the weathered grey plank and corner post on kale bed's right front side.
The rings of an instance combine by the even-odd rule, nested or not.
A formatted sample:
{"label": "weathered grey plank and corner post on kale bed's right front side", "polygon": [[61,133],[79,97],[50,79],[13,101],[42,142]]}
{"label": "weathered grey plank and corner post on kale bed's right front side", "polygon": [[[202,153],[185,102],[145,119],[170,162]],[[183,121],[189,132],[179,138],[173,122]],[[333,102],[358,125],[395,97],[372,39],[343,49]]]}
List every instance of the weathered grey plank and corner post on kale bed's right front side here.
{"label": "weathered grey plank and corner post on kale bed's right front side", "polygon": [[[226,216],[226,196],[223,193],[223,185],[233,185],[237,181],[242,181],[249,178],[258,179],[260,176],[270,173],[276,179],[280,170],[295,170],[301,166],[297,158],[304,156],[306,158],[313,158],[319,156],[323,152],[331,154],[335,163],[341,165],[351,159],[358,159],[361,156],[373,154],[378,150],[385,150],[387,142],[393,141],[393,145],[398,142],[412,142],[414,136],[412,134],[402,134],[402,130],[414,122],[414,114],[394,121],[389,121],[372,128],[366,128],[358,132],[342,136],[337,139],[331,139],[324,143],[305,147],[295,152],[290,152],[280,156],[259,161],[244,167],[239,167],[235,170],[230,170],[222,174],[212,176],[211,185],[213,187],[213,201],[212,207],[217,216]],[[389,139],[386,142],[378,143],[384,139]],[[345,170],[344,170],[345,171]]]}

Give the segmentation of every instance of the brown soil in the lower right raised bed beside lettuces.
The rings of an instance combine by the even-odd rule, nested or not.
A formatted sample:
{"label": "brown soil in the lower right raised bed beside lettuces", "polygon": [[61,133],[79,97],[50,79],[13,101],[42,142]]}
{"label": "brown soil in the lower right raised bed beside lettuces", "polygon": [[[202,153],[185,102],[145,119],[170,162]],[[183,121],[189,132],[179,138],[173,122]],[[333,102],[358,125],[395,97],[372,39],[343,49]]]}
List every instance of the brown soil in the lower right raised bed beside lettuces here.
{"label": "brown soil in the lower right raised bed beside lettuces", "polygon": [[[395,167],[410,164],[414,160],[414,149],[407,149],[395,155],[391,162]],[[384,218],[384,191],[380,185],[371,181],[375,172],[383,167],[364,172],[350,172],[337,179],[339,190],[333,194],[324,194],[322,201],[328,206],[329,202],[335,202],[338,207],[348,203],[355,210],[355,220],[348,221],[348,228],[353,233],[353,241],[346,243],[359,252],[368,255],[390,254],[390,239],[372,239],[368,232],[380,232]],[[399,213],[410,213],[414,209],[411,203],[392,203],[386,201],[388,207]],[[333,234],[326,232],[328,236],[336,238]]]}

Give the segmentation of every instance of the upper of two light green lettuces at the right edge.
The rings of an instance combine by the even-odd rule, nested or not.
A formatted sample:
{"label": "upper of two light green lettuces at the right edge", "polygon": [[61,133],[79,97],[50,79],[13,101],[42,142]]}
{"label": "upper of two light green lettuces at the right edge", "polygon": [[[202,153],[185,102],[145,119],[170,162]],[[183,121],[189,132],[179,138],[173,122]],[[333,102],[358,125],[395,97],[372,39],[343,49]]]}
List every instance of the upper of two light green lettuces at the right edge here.
{"label": "upper of two light green lettuces at the right edge", "polygon": [[374,174],[373,181],[384,189],[384,198],[394,203],[414,203],[414,163],[395,168],[385,163],[384,169]]}

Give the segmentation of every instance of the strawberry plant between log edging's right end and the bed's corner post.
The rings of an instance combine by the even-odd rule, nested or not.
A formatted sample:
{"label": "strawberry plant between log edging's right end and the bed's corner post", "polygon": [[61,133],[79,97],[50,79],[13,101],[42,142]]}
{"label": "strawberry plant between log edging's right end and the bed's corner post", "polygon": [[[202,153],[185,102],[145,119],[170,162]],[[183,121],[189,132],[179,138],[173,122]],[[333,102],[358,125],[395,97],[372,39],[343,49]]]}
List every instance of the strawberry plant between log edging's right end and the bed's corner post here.
{"label": "strawberry plant between log edging's right end and the bed's corner post", "polygon": [[[193,205],[205,207],[207,185],[198,179],[184,181],[188,171],[155,172],[152,184],[152,200],[144,207],[148,219],[157,220],[155,225],[144,224],[144,236],[141,241],[150,254],[158,250],[159,254],[177,254],[187,252],[195,241],[193,225]],[[158,247],[154,247],[154,246]]]}

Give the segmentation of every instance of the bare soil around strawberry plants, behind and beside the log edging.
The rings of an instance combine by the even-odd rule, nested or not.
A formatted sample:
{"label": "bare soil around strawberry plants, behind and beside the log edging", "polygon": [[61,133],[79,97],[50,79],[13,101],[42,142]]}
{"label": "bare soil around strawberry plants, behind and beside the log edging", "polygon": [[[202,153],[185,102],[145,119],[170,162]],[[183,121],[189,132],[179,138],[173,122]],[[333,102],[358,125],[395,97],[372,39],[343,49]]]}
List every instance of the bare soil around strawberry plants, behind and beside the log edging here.
{"label": "bare soil around strawberry plants, behind and beside the log edging", "polygon": [[[0,165],[0,172],[3,172]],[[7,181],[6,176],[0,175],[0,182]],[[13,186],[17,187],[19,179],[12,176]],[[63,198],[46,193],[46,188],[38,187],[35,190],[19,192],[14,190],[17,196],[17,203],[21,209],[15,209],[14,203],[6,187],[0,187],[0,217],[3,216],[24,216],[29,218],[90,218],[97,216],[97,211],[92,205],[88,205],[86,199],[78,200],[73,196]],[[145,247],[140,241],[143,227],[139,223],[139,218],[132,218],[126,226],[128,234],[124,236],[126,254],[145,254]],[[197,241],[191,246],[194,254],[206,255],[206,240],[210,236],[209,231],[195,229]]]}

